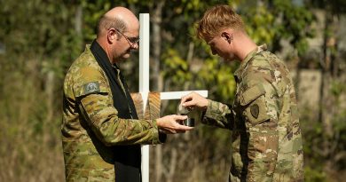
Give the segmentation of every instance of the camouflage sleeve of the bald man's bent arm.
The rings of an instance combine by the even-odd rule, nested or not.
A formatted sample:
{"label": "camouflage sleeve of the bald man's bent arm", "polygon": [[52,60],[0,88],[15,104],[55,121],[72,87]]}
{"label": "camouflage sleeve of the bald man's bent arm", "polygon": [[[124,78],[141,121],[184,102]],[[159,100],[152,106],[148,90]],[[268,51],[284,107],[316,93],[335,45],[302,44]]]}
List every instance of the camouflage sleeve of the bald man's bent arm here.
{"label": "camouflage sleeve of the bald man's bent arm", "polygon": [[[106,78],[95,68],[82,68],[74,84],[78,107],[91,130],[106,145],[161,143],[156,120],[118,117]],[[94,88],[86,86],[95,83]]]}

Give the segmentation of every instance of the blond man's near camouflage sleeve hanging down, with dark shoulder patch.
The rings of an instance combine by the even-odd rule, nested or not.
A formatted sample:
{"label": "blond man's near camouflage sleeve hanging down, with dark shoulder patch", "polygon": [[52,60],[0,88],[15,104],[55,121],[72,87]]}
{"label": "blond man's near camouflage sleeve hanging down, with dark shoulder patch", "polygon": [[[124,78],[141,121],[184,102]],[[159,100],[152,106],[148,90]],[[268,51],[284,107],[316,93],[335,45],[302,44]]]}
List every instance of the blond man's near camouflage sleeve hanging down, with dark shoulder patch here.
{"label": "blond man's near camouflage sleeve hanging down, with dark shoulder patch", "polygon": [[279,150],[278,102],[271,83],[258,74],[250,80],[240,97],[248,133],[247,181],[271,181]]}

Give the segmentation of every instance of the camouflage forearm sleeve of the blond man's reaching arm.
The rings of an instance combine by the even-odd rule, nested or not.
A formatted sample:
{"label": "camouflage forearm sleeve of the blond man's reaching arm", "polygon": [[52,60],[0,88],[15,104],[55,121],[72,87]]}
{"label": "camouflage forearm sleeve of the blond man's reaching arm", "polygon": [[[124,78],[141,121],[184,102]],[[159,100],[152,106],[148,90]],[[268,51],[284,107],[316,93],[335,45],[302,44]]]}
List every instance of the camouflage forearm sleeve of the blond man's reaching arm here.
{"label": "camouflage forearm sleeve of the blond man's reaching arm", "polygon": [[232,130],[233,111],[232,107],[214,100],[208,100],[208,107],[202,123],[219,128]]}

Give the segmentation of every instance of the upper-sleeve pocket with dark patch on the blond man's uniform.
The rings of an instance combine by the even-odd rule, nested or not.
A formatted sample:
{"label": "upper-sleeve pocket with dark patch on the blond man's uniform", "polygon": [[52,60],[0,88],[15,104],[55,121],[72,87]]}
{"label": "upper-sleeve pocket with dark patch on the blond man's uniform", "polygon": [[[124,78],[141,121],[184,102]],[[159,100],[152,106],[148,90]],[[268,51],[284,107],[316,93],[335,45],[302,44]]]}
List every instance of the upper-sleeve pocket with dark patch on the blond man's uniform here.
{"label": "upper-sleeve pocket with dark patch on the blond man's uniform", "polygon": [[240,95],[242,115],[248,123],[256,125],[270,119],[265,104],[265,91],[260,85],[253,86]]}

